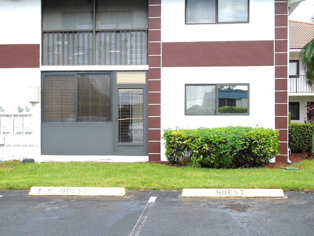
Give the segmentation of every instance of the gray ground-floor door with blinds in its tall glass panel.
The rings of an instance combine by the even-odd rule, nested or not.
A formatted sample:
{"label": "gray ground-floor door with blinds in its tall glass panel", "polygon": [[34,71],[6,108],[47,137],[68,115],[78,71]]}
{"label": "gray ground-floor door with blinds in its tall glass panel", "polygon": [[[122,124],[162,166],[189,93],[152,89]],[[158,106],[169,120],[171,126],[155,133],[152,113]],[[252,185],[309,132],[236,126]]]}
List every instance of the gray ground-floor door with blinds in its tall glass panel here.
{"label": "gray ground-floor door with blinds in its tall glass panel", "polygon": [[145,155],[145,89],[119,88],[117,95],[117,154]]}

